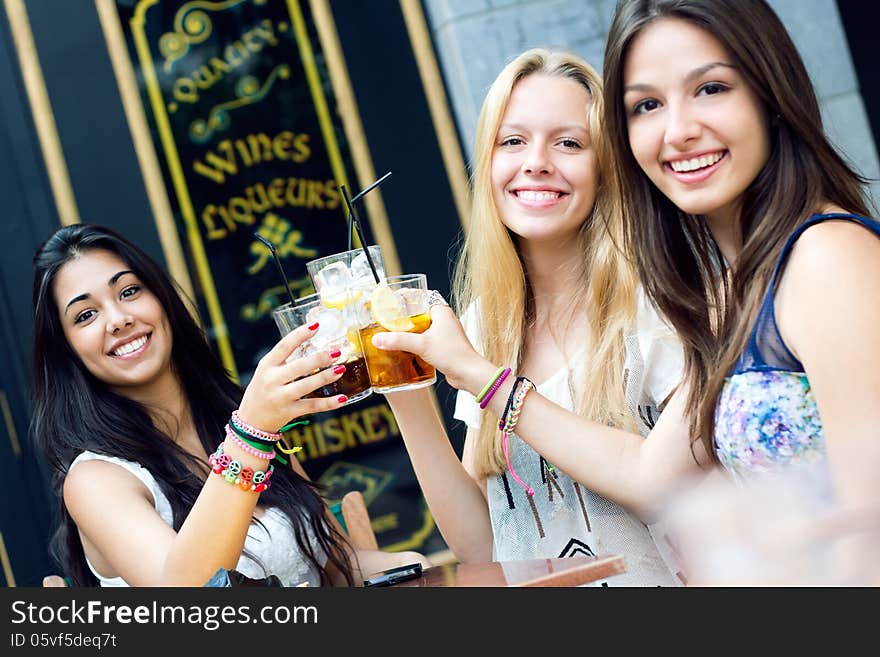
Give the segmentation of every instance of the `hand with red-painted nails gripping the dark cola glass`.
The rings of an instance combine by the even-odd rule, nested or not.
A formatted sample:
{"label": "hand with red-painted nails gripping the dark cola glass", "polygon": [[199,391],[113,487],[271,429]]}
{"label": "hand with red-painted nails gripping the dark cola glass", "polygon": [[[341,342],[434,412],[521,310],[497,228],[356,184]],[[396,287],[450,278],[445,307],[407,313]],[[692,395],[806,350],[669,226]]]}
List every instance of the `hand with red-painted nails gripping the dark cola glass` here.
{"label": "hand with red-painted nails gripping the dark cola glass", "polygon": [[291,357],[317,330],[317,324],[300,326],[281,338],[260,359],[238,409],[242,421],[264,431],[278,431],[290,420],[332,411],[347,401],[345,395],[303,399],[313,390],[338,380],[345,372],[344,365],[330,367],[339,358],[338,351]]}

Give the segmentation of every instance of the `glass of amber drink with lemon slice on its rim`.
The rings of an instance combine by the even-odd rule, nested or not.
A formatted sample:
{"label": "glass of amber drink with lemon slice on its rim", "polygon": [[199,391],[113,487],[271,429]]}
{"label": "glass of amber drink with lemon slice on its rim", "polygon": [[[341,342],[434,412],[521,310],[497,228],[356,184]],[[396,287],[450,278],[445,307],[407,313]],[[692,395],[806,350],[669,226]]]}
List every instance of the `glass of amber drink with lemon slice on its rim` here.
{"label": "glass of amber drink with lemon slice on its rim", "polygon": [[373,336],[386,331],[424,333],[431,326],[428,284],[424,274],[390,276],[370,293],[369,323],[360,329],[361,344],[373,390],[380,393],[415,390],[437,381],[432,365],[407,351],[373,346]]}

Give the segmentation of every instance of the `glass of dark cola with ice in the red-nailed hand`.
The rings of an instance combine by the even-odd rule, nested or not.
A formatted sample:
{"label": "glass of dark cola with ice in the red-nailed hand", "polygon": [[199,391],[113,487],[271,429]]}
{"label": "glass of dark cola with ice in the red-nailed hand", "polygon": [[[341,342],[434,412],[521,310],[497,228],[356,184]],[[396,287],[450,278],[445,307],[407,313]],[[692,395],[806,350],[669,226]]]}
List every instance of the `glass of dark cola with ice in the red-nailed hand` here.
{"label": "glass of dark cola with ice in the red-nailed hand", "polygon": [[294,354],[296,357],[334,349],[342,352],[336,363],[345,365],[345,373],[333,383],[308,393],[306,398],[345,395],[348,397],[345,402],[347,405],[360,401],[373,392],[358,335],[360,325],[346,308],[327,307],[321,302],[320,295],[312,294],[297,299],[293,304],[286,303],[276,308],[272,316],[282,336],[303,324],[318,322],[318,331],[297,349]]}

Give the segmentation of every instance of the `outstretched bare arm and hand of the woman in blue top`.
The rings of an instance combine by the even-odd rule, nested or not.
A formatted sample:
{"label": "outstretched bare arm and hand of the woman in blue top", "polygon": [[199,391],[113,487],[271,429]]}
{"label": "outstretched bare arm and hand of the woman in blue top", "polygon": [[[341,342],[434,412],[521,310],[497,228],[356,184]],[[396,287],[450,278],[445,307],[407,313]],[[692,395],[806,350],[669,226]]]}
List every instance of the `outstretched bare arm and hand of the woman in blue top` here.
{"label": "outstretched bare arm and hand of the woman in blue top", "polygon": [[[443,372],[450,385],[476,394],[497,366],[471,346],[449,308],[436,305],[431,313],[431,328],[425,333],[380,333],[374,344],[414,352]],[[493,417],[504,412],[513,379],[508,377],[492,397],[487,410]],[[684,419],[685,399],[686,391],[679,389],[650,436],[642,439],[586,420],[532,391],[516,433],[590,490],[650,521],[666,495],[700,472]],[[699,446],[694,452],[700,463],[708,462]]]}

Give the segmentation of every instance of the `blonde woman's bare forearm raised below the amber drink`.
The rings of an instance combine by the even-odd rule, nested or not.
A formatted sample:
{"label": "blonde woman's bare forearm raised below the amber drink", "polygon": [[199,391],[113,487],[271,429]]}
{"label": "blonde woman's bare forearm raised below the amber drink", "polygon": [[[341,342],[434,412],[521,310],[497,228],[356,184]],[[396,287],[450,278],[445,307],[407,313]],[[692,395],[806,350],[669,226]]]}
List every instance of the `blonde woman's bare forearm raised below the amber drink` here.
{"label": "blonde woman's bare forearm raised below the amber drink", "polygon": [[[492,525],[485,481],[478,483],[472,469],[458,460],[443,422],[431,399],[431,390],[386,395],[422,493],[443,539],[460,561],[490,561]],[[475,430],[465,439],[465,463]]]}

